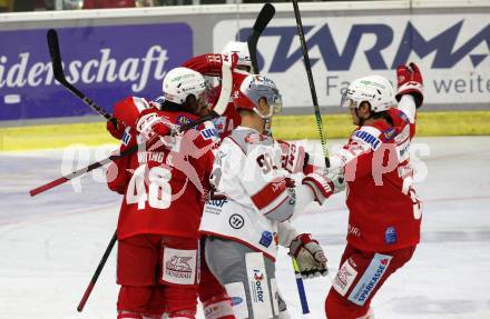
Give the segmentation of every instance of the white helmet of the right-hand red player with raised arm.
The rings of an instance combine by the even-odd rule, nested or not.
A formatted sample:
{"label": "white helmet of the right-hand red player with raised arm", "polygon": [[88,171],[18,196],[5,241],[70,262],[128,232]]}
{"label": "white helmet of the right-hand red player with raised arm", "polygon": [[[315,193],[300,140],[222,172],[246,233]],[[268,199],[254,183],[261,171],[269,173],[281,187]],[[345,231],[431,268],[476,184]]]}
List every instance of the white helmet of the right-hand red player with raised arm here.
{"label": "white helmet of the right-hand red player with raised arm", "polygon": [[371,111],[382,112],[396,106],[393,87],[380,76],[354,80],[342,96],[341,107],[359,109],[362,102],[371,106]]}

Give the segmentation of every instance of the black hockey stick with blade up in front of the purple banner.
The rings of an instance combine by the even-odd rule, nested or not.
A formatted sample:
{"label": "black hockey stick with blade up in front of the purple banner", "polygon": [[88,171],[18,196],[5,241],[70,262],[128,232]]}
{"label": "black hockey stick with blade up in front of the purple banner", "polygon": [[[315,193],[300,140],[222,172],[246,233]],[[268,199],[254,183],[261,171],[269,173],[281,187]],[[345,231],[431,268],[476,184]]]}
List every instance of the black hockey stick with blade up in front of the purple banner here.
{"label": "black hockey stick with blade up in front of the purple banner", "polygon": [[109,114],[106,110],[97,106],[96,102],[90,100],[86,94],[84,94],[80,90],[78,90],[70,82],[68,82],[67,78],[65,77],[65,71],[61,63],[61,51],[59,49],[58,32],[55,29],[49,29],[47,33],[47,39],[48,39],[49,56],[51,57],[52,73],[55,76],[55,79],[57,79],[58,82],[61,83],[61,86],[63,86],[71,93],[74,93],[74,96],[79,98],[86,106],[88,106],[94,111],[102,116],[106,120],[112,121],[115,124],[117,124],[117,120],[112,118],[111,114]]}

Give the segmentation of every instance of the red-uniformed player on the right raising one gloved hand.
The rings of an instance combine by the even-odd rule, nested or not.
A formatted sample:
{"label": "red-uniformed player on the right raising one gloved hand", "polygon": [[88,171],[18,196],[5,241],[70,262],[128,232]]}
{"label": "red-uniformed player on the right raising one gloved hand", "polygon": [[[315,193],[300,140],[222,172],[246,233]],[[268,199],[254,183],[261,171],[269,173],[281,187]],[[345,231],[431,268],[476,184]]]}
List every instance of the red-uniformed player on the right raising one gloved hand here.
{"label": "red-uniformed player on the right raising one gloved hand", "polygon": [[372,76],[353,81],[342,100],[357,128],[330,159],[331,170],[344,172],[350,213],[347,246],[325,300],[329,319],[373,318],[372,298],[420,240],[410,142],[422,76],[414,63],[400,66],[396,74],[396,94],[386,79]]}

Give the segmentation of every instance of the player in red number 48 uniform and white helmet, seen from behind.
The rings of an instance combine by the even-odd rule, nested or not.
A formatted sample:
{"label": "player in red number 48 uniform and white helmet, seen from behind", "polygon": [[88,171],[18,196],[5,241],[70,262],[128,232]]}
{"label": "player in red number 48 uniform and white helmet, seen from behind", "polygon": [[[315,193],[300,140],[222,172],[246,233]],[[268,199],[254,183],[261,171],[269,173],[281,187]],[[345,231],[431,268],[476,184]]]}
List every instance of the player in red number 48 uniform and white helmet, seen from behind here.
{"label": "player in red number 48 uniform and white helmet, seen from behind", "polygon": [[204,127],[163,139],[155,133],[166,136],[195,120],[194,113],[206,107],[207,88],[198,72],[176,68],[164,79],[164,92],[161,110],[144,110],[136,123],[131,116],[124,120],[121,150],[141,140],[157,142],[108,170],[109,188],[125,195],[117,228],[118,318],[196,313],[199,189],[213,160],[213,130]]}

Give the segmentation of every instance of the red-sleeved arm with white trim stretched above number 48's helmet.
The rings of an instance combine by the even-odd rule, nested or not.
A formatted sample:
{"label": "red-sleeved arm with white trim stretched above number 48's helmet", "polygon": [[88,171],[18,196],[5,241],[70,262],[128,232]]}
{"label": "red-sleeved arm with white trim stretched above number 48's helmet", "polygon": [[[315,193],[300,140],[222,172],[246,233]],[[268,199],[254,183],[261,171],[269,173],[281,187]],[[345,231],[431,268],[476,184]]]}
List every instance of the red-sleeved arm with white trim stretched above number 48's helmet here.
{"label": "red-sleeved arm with white trim stretched above number 48's helmet", "polygon": [[235,53],[219,54],[219,53],[205,53],[192,58],[185,61],[182,66],[197,71],[204,76],[220,77],[223,64],[228,64],[233,70],[238,61],[238,56]]}

